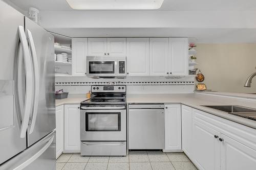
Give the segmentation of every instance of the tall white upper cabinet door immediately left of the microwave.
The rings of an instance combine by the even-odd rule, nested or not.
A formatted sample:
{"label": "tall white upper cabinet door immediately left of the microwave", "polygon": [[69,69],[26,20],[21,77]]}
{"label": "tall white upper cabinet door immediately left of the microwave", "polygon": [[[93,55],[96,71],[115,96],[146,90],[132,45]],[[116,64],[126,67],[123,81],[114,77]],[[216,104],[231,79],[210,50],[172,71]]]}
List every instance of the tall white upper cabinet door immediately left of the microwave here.
{"label": "tall white upper cabinet door immediately left of the microwave", "polygon": [[88,39],[72,38],[72,76],[86,76]]}

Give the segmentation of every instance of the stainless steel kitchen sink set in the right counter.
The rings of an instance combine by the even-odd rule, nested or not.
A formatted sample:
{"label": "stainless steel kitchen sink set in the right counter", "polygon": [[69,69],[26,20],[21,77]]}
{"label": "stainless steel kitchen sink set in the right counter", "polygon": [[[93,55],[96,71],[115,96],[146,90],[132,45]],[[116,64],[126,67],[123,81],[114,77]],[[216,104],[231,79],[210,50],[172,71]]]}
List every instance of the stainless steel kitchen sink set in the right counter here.
{"label": "stainless steel kitchen sink set in the right counter", "polygon": [[237,115],[240,117],[256,120],[256,109],[238,105],[219,105],[219,106],[204,106],[211,109],[227,112],[228,114]]}

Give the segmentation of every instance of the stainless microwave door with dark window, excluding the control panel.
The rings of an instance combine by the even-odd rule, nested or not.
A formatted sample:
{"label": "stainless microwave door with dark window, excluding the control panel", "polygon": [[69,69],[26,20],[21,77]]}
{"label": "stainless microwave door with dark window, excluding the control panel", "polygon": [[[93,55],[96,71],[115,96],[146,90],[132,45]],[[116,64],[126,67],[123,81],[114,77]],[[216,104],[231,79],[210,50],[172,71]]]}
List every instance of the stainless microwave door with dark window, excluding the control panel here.
{"label": "stainless microwave door with dark window, excluding the control panel", "polygon": [[117,61],[88,60],[87,76],[98,76],[98,77],[117,76]]}

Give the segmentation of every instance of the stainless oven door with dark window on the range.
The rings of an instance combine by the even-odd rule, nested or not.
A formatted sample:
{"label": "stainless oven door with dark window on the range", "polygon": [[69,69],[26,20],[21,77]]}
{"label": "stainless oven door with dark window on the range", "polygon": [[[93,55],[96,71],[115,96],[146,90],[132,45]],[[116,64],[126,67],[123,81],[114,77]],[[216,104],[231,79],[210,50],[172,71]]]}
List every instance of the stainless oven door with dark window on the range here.
{"label": "stainless oven door with dark window on the range", "polygon": [[126,110],[81,110],[81,141],[125,141]]}

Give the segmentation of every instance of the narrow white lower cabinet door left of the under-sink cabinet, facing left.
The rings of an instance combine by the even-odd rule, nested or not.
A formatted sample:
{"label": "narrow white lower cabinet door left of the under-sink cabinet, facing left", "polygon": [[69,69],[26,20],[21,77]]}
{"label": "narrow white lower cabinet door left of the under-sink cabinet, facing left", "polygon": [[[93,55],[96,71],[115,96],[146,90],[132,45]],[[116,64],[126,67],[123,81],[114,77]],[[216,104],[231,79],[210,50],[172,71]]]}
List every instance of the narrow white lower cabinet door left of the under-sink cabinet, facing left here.
{"label": "narrow white lower cabinet door left of the under-sink cabinet, facing left", "polygon": [[192,108],[181,105],[182,150],[190,159],[192,158],[192,120]]}

